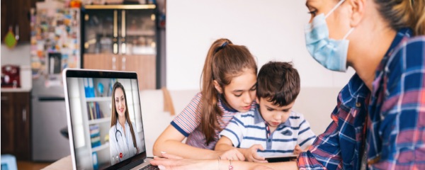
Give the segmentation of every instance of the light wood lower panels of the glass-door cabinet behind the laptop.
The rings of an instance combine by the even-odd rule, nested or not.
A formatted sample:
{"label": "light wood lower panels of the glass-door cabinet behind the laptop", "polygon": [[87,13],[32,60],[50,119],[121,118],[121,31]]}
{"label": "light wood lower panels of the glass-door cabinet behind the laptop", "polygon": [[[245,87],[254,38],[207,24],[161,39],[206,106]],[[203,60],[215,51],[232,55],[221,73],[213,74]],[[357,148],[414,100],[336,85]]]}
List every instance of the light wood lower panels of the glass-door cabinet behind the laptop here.
{"label": "light wood lower panels of the glass-door cabinet behind the laptop", "polygon": [[136,72],[139,90],[156,88],[156,55],[84,54],[84,69]]}

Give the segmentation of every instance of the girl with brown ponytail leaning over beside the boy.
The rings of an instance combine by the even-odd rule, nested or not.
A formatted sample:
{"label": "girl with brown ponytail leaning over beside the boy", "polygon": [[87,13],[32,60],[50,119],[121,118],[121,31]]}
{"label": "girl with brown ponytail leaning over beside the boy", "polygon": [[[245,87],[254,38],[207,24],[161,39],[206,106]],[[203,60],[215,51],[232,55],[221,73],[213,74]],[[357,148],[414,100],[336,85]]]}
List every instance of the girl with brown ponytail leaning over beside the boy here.
{"label": "girl with brown ponytail leaning over beside the boy", "polygon": [[[158,137],[154,155],[167,152],[207,159],[224,154],[212,149],[234,114],[255,107],[256,72],[256,62],[246,47],[227,39],[213,42],[203,67],[201,92]],[[236,155],[243,157],[240,153]]]}

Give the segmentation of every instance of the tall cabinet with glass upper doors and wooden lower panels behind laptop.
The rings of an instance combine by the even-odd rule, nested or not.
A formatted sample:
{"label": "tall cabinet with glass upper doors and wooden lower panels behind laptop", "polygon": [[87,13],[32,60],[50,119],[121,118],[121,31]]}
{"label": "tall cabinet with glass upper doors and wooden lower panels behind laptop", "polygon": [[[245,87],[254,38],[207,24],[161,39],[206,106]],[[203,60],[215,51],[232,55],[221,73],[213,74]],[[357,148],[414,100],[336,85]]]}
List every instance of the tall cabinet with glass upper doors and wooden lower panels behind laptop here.
{"label": "tall cabinet with glass upper doors and wooden lower panels behind laptop", "polygon": [[157,88],[157,8],[146,5],[84,6],[84,69],[137,72],[139,90]]}

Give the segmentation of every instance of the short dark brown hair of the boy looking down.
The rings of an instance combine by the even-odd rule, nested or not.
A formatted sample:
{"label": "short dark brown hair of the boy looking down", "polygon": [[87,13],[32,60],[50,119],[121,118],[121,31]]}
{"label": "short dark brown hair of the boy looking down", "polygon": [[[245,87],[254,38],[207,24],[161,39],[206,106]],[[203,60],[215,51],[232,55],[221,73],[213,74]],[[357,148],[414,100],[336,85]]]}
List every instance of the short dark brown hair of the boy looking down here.
{"label": "short dark brown hair of the boy looking down", "polygon": [[268,62],[261,67],[257,77],[256,96],[287,106],[300,94],[300,75],[292,62]]}

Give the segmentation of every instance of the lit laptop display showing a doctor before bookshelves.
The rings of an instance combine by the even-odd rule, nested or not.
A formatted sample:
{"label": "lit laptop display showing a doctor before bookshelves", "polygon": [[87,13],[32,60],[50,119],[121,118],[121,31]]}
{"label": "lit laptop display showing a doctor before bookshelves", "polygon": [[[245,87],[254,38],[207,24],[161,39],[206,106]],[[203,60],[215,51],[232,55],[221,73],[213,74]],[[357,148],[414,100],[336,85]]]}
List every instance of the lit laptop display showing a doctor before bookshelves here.
{"label": "lit laptop display showing a doctor before bookshelves", "polygon": [[[125,94],[127,105],[113,112],[117,81],[125,91],[115,94]],[[145,152],[137,79],[67,78],[67,87],[77,169],[103,169]],[[111,123],[112,114],[125,110],[130,123]]]}

